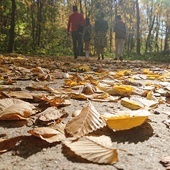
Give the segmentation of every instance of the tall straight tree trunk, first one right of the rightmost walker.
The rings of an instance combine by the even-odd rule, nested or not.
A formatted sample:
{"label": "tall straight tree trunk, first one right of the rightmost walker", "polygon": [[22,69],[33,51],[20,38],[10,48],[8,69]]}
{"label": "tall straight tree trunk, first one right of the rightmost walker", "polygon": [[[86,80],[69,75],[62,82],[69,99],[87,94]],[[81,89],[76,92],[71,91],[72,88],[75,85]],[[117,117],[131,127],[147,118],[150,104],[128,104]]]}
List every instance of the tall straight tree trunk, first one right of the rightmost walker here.
{"label": "tall straight tree trunk, first one right of the rightmost walker", "polygon": [[136,53],[140,54],[140,13],[139,13],[139,2],[136,0],[136,20],[137,20],[137,46]]}

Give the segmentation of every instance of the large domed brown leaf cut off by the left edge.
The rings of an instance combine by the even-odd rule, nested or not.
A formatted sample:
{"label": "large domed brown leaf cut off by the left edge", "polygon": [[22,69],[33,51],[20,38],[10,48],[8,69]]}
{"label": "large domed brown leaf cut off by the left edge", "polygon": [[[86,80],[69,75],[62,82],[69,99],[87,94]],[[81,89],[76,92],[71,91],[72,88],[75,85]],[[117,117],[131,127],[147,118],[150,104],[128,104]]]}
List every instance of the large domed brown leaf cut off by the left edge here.
{"label": "large domed brown leaf cut off by the left edge", "polygon": [[0,100],[0,120],[24,120],[34,114],[35,107],[19,99]]}

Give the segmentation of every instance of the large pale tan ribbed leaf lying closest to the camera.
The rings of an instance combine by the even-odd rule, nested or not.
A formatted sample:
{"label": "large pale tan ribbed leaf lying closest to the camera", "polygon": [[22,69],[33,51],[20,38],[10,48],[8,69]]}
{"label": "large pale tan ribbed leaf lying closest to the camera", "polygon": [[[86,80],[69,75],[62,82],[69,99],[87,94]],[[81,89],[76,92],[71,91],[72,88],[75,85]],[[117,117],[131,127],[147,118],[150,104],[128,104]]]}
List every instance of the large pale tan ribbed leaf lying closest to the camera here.
{"label": "large pale tan ribbed leaf lying closest to the camera", "polygon": [[107,136],[83,136],[78,140],[65,140],[64,144],[84,159],[95,163],[113,164],[118,162],[117,150]]}

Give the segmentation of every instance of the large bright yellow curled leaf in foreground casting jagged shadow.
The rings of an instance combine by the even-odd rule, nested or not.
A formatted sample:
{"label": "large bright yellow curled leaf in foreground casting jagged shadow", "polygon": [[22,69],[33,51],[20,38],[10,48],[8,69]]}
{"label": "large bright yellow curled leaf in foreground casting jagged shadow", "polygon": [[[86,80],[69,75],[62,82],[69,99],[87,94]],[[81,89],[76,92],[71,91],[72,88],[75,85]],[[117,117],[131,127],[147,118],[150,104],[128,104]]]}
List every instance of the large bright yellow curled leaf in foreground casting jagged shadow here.
{"label": "large bright yellow curled leaf in foreground casting jagged shadow", "polygon": [[107,126],[115,131],[127,130],[142,125],[151,113],[148,110],[119,111],[115,115],[104,114],[101,117]]}

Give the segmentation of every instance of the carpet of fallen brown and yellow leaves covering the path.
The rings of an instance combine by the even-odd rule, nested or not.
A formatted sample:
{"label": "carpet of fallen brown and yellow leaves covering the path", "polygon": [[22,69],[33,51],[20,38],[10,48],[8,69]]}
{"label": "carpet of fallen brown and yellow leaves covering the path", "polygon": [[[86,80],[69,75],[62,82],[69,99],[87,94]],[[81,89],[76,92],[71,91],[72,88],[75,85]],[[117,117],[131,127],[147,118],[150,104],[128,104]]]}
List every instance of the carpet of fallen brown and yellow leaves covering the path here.
{"label": "carpet of fallen brown and yellow leaves covering the path", "polygon": [[[68,62],[69,61],[69,62]],[[62,143],[95,163],[118,161],[118,149],[104,127],[124,131],[152,121],[154,109],[170,105],[170,67],[138,61],[88,62],[83,58],[0,56],[0,121],[24,120],[31,127],[25,136],[0,134],[0,153],[25,137]],[[72,101],[88,101],[73,112]],[[112,112],[100,112],[93,102],[112,102]],[[78,103],[77,103],[78,105]],[[165,113],[169,115],[169,112]],[[170,121],[165,120],[170,127]]]}

